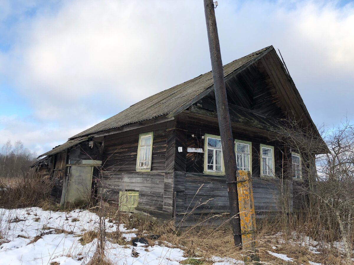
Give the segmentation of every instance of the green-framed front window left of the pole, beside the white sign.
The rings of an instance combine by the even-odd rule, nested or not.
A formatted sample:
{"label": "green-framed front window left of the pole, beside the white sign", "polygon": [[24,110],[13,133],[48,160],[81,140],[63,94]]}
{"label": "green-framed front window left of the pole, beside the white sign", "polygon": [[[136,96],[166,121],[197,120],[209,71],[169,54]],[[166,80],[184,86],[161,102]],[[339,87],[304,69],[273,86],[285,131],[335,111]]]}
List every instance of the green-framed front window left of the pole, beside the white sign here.
{"label": "green-framed front window left of the pole, beside the white sign", "polygon": [[220,136],[206,134],[204,139],[204,173],[223,175],[224,165]]}

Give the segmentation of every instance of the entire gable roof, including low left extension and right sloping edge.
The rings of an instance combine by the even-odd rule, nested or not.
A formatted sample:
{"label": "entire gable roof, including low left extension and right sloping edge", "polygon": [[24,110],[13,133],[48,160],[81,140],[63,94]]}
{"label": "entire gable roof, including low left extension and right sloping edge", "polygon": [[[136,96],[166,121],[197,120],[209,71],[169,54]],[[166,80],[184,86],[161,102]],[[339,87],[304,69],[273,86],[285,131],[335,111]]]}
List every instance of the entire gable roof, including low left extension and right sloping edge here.
{"label": "entire gable roof, including low left extension and right sloping edge", "polygon": [[[264,55],[268,54],[270,51],[273,51],[276,54],[273,46],[268,46],[263,49],[260,49],[259,51],[253,52],[249,55],[246,55],[240,59],[234,60],[231,63],[224,65],[223,71],[224,71],[225,81],[228,80],[228,77],[232,77],[236,75],[237,73],[245,70],[247,67],[249,67],[256,61],[258,61],[259,59],[264,58],[265,57]],[[279,63],[281,64],[281,67],[284,68],[280,59],[279,59]],[[285,72],[285,68],[283,70]],[[295,84],[293,84],[289,73],[287,72],[285,73],[291,83],[290,87],[292,88],[291,90],[293,90],[291,93],[294,93],[297,101],[293,103],[298,104],[298,106],[301,108],[301,113],[305,114],[305,117],[308,120],[309,124],[311,124],[314,130],[317,131],[317,128],[313,123],[306,109],[306,106],[304,105],[303,100],[298,90],[295,87]],[[53,155],[62,152],[65,149],[68,149],[83,141],[88,140],[90,137],[92,137],[93,134],[102,131],[119,128],[128,124],[142,122],[144,120],[153,119],[159,116],[173,117],[178,113],[182,112],[183,110],[187,109],[191,105],[193,105],[201,98],[205,97],[213,89],[214,89],[213,76],[212,76],[212,71],[210,71],[205,73],[204,75],[195,77],[189,81],[174,86],[170,89],[166,89],[155,95],[149,96],[148,98],[143,99],[137,102],[136,104],[133,104],[132,106],[130,106],[124,111],[121,111],[115,116],[110,117],[92,126],[91,128],[70,137],[69,140],[63,145],[53,148],[51,151],[48,151],[40,155],[39,157],[43,157],[45,155]],[[240,112],[240,110],[238,112]],[[260,115],[259,113],[257,114],[258,115],[257,116],[254,113],[249,113],[249,111],[247,110],[246,112],[247,113],[244,116],[242,116],[242,118],[246,118],[246,120],[251,120],[253,122],[259,121],[259,117],[258,117]],[[265,118],[267,117],[262,117],[262,123],[276,127],[276,123],[273,122],[273,119],[265,119]],[[265,120],[267,120],[267,122],[265,122]]]}

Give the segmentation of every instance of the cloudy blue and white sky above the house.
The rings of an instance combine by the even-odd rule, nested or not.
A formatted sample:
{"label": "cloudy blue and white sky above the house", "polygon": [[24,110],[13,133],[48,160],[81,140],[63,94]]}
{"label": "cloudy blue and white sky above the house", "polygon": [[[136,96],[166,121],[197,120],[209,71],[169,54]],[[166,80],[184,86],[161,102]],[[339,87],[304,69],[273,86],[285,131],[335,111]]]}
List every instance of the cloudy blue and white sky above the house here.
{"label": "cloudy blue and white sky above the house", "polygon": [[[224,64],[273,45],[316,124],[354,120],[353,1],[218,4]],[[0,146],[41,154],[210,70],[202,0],[0,0]]]}

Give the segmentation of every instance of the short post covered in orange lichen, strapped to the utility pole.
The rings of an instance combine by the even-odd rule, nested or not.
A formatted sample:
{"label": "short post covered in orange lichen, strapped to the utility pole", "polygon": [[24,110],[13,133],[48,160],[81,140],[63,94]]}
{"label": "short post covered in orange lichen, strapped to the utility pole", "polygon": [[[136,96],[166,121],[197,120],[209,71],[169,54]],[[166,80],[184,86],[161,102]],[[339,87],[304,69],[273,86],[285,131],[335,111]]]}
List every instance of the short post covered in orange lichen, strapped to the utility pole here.
{"label": "short post covered in orange lichen, strapped to the utility pole", "polygon": [[[253,203],[251,173],[244,170],[236,171],[236,181],[239,197],[242,248],[255,253],[256,214]],[[251,255],[250,259],[256,261],[257,255]]]}

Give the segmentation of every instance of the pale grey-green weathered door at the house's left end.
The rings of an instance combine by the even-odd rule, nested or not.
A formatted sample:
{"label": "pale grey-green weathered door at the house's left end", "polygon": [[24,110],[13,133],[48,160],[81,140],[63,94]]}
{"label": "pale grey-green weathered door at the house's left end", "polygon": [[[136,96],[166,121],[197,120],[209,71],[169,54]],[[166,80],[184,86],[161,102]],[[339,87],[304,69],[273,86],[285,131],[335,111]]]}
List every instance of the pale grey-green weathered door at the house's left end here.
{"label": "pale grey-green weathered door at the house's left end", "polygon": [[90,200],[93,166],[70,166],[65,207],[72,207]]}

